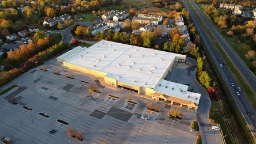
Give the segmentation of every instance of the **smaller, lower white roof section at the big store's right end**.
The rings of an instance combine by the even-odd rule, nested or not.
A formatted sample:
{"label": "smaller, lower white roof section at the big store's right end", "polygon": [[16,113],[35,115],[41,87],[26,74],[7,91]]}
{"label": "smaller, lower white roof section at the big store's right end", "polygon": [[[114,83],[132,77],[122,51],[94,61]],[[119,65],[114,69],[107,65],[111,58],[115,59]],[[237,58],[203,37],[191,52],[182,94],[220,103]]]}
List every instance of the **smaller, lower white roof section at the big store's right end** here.
{"label": "smaller, lower white roof section at the big store's right end", "polygon": [[199,104],[201,94],[187,91],[189,86],[161,79],[155,91]]}

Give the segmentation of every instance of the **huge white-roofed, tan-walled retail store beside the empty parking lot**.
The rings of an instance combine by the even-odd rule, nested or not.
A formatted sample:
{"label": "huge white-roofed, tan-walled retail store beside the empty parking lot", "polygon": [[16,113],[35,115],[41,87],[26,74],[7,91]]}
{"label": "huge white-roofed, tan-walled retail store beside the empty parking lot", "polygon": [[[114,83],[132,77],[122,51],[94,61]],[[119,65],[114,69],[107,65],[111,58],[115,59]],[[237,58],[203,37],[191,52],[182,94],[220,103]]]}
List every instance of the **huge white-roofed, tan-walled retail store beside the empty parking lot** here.
{"label": "huge white-roofed, tan-walled retail store beside the empty parking lot", "polygon": [[57,60],[67,69],[104,78],[105,84],[195,111],[201,97],[187,91],[187,85],[164,79],[176,62],[186,61],[186,55],[101,40],[88,48],[78,46]]}

